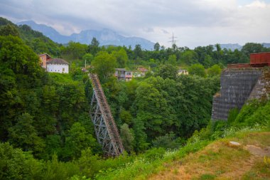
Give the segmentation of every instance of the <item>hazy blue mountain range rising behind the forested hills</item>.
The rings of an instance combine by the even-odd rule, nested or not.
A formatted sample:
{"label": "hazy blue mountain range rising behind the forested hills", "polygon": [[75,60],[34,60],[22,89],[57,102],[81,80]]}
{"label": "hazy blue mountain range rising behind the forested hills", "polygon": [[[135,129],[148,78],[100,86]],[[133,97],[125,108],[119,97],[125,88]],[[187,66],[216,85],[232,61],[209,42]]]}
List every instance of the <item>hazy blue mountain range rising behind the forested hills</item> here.
{"label": "hazy blue mountain range rising behind the forested hills", "polygon": [[33,30],[40,31],[51,40],[63,44],[68,43],[69,41],[90,44],[92,38],[95,37],[97,38],[97,41],[99,41],[100,46],[114,45],[126,47],[131,46],[131,48],[134,48],[136,44],[140,44],[141,48],[151,50],[153,49],[154,45],[153,42],[144,38],[121,36],[119,33],[116,33],[108,28],[104,28],[101,31],[85,30],[81,31],[80,33],[72,33],[70,36],[64,36],[58,33],[58,31],[56,31],[54,28],[44,24],[38,24],[34,21],[22,21],[17,23],[18,26],[23,24],[31,26]]}

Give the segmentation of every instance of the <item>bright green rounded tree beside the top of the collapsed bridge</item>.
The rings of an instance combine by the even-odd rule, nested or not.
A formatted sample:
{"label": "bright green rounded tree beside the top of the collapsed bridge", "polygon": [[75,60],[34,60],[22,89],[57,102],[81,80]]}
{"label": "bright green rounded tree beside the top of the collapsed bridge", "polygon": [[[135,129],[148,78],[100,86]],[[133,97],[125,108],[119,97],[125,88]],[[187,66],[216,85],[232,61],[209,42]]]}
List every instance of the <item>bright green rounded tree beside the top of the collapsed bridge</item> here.
{"label": "bright green rounded tree beside the top of the collapsed bridge", "polygon": [[114,74],[117,59],[112,54],[100,51],[92,61],[92,66],[94,67],[94,72],[99,75],[99,79],[105,82]]}

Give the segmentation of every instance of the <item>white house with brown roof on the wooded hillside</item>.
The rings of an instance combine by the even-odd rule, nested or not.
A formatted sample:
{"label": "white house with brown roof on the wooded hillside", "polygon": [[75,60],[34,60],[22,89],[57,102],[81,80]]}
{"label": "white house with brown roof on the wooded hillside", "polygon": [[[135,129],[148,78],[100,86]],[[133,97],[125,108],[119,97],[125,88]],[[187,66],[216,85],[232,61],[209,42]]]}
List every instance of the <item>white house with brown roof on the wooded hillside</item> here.
{"label": "white house with brown roof on the wooded hillside", "polygon": [[68,62],[60,58],[54,58],[47,62],[47,72],[68,73]]}

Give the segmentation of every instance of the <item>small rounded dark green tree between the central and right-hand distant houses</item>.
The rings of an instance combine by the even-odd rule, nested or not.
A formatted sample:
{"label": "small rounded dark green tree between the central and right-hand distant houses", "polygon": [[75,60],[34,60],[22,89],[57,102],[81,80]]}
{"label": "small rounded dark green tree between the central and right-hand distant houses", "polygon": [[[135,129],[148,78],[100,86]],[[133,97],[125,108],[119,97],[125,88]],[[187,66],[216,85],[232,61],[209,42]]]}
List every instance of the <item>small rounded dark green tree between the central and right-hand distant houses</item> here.
{"label": "small rounded dark green tree between the central and right-hand distant houses", "polygon": [[175,66],[171,64],[166,64],[161,66],[156,75],[160,76],[163,79],[169,78],[175,80],[177,73],[178,69]]}

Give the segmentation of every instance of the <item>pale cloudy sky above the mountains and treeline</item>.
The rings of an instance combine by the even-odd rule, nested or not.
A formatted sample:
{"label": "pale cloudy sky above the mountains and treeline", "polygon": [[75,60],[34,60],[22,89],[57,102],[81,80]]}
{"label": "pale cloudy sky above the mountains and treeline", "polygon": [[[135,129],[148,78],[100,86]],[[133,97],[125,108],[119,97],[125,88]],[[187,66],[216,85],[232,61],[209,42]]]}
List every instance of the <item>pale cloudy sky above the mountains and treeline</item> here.
{"label": "pale cloudy sky above the mountains and treeline", "polygon": [[0,0],[0,16],[64,35],[110,28],[170,46],[270,43],[270,0]]}

